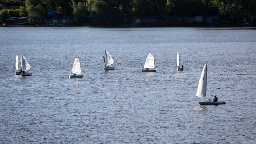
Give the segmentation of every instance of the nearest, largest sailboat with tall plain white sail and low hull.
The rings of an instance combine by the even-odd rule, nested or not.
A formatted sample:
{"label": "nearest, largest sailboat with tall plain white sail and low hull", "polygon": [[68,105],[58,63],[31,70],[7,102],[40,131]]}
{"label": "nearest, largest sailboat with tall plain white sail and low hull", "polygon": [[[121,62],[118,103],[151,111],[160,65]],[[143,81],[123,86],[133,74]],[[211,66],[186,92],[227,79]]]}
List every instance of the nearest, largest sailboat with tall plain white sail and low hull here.
{"label": "nearest, largest sailboat with tall plain white sail and low hull", "polygon": [[225,104],[226,102],[212,102],[211,99],[206,101],[206,81],[207,81],[207,62],[204,64],[204,68],[199,80],[199,84],[197,87],[196,96],[198,97],[205,97],[205,101],[200,101],[200,105],[218,105],[218,104]]}

